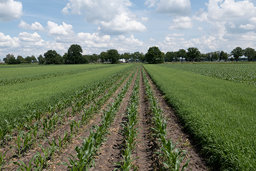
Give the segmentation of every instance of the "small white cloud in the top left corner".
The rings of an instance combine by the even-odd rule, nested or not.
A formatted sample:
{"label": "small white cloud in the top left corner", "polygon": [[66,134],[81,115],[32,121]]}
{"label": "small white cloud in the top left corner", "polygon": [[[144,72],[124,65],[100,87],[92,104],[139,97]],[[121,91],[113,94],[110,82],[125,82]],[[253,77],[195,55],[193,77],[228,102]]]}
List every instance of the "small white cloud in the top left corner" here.
{"label": "small white cloud in the top left corner", "polygon": [[13,0],[0,1],[0,20],[2,22],[20,19],[22,12],[22,3]]}

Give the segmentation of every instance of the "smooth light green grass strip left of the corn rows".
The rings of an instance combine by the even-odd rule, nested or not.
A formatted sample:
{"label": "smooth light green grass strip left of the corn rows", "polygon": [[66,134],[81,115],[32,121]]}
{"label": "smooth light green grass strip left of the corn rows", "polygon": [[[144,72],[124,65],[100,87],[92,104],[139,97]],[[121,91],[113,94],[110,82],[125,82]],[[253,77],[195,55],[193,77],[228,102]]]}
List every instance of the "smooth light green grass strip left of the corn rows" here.
{"label": "smooth light green grass strip left of the corn rows", "polygon": [[[6,126],[4,119],[7,119],[8,122],[15,119],[21,121],[21,117],[26,113],[31,113],[33,110],[46,110],[49,105],[56,104],[60,99],[69,97],[75,91],[128,66],[118,65],[106,69],[0,86],[0,115],[3,118],[0,121],[0,126]],[[33,69],[32,67],[28,68]]]}

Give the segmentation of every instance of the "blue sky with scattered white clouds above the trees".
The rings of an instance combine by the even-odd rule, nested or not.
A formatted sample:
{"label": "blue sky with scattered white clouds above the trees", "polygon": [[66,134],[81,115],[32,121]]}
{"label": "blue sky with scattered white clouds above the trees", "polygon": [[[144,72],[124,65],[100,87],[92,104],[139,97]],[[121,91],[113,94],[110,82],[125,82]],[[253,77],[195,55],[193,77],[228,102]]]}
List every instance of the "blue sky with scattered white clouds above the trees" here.
{"label": "blue sky with scattered white clouds above the trees", "polygon": [[256,0],[0,0],[0,59],[7,54],[166,53],[256,48]]}

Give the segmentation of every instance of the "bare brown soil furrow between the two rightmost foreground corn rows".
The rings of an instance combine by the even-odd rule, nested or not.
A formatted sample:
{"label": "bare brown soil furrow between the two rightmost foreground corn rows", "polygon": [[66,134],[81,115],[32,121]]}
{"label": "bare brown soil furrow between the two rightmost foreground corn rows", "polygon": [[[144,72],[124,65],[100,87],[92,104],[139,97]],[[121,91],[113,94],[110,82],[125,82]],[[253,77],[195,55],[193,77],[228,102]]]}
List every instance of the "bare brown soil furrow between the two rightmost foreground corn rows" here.
{"label": "bare brown soil furrow between the two rightmost foreground corn rows", "polygon": [[136,166],[138,170],[153,170],[153,149],[155,149],[156,143],[149,137],[150,135],[150,118],[149,105],[146,99],[146,92],[143,83],[142,72],[140,71],[140,109],[139,109],[139,138],[138,144],[136,144]]}

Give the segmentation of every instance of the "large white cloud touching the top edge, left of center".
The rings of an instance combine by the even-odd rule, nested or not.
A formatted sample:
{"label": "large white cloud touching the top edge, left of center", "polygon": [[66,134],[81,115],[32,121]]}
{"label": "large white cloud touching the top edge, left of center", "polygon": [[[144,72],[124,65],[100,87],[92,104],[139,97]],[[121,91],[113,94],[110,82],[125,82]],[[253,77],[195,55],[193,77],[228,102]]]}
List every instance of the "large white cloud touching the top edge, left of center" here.
{"label": "large white cloud touching the top edge, left of center", "polygon": [[69,0],[62,9],[64,14],[84,14],[86,21],[99,25],[98,31],[110,35],[122,35],[133,31],[146,31],[146,27],[136,21],[128,7],[129,0]]}

